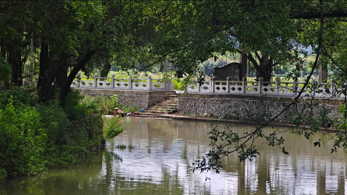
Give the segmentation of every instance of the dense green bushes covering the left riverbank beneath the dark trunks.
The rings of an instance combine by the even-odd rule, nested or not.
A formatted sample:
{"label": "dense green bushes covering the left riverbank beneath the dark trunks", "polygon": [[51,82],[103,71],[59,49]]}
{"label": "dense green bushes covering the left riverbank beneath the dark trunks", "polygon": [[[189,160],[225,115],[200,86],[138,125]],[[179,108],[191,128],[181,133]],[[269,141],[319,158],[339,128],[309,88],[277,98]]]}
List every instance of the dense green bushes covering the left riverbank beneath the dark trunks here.
{"label": "dense green bushes covering the left riverbank beneath the dark trunks", "polygon": [[24,86],[0,94],[0,180],[82,163],[123,131],[113,117],[102,132],[98,115],[111,114],[115,106],[124,109],[115,96],[84,98],[71,89],[60,106],[58,98],[39,103],[36,94]]}

